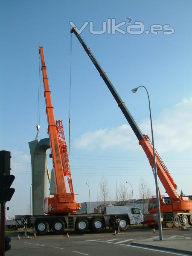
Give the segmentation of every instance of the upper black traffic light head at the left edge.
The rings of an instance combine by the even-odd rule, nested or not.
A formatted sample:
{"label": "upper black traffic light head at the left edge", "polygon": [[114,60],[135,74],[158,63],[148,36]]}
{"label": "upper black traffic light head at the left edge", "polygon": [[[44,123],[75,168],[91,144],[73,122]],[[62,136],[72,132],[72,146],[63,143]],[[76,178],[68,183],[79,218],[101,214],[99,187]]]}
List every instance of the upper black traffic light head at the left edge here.
{"label": "upper black traffic light head at the left edge", "polygon": [[0,203],[10,201],[15,189],[10,188],[15,179],[14,175],[10,175],[10,151],[0,151]]}

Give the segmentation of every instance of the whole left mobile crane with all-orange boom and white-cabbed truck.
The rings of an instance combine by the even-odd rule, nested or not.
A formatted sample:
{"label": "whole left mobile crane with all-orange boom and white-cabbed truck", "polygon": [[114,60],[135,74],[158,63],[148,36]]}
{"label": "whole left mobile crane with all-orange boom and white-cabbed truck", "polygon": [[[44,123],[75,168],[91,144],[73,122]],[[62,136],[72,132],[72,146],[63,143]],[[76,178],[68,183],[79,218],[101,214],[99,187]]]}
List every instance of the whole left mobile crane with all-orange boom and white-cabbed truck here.
{"label": "whole left mobile crane with all-orange boom and white-cabbed truck", "polygon": [[[28,225],[34,226],[39,234],[45,234],[49,230],[52,230],[54,233],[62,233],[65,228],[75,229],[80,233],[86,232],[87,229],[101,232],[105,227],[116,228],[117,220],[121,230],[126,230],[129,225],[142,223],[143,215],[139,207],[106,206],[102,208],[101,212],[97,213],[86,213],[87,210],[84,208],[83,212],[85,213],[76,213],[80,209],[81,204],[75,201],[62,121],[55,122],[54,118],[43,47],[40,47],[39,53],[41,55],[48,133],[56,192],[53,198],[45,198],[44,215],[16,215],[15,219],[21,221],[21,225],[26,223],[27,220]],[[67,193],[64,176],[67,176],[70,193]]]}

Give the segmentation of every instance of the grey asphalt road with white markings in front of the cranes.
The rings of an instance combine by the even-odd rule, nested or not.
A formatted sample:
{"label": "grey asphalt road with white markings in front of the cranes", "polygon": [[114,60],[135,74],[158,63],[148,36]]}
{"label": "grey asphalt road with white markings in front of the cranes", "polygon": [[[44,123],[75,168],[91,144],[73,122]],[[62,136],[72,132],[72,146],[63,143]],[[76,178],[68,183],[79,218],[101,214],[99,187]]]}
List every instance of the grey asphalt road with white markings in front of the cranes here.
{"label": "grey asphalt road with white markings in front of the cranes", "polygon": [[[150,229],[127,230],[117,235],[113,235],[112,230],[85,234],[70,231],[69,238],[66,232],[60,235],[50,232],[36,238],[34,233],[29,233],[31,239],[21,240],[17,235],[10,234],[12,248],[6,256],[192,255],[192,229],[163,230],[163,241],[159,241],[158,230],[153,233]],[[23,236],[24,233],[20,233],[20,238]]]}

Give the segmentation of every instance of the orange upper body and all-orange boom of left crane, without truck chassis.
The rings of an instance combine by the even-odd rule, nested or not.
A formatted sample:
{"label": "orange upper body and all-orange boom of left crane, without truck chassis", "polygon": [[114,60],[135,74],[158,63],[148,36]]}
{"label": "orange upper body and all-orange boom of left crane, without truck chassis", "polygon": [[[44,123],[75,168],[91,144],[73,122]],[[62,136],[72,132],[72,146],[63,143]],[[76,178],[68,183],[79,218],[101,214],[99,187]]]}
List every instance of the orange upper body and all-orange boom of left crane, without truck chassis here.
{"label": "orange upper body and all-orange boom of left crane, without truck chassis", "polygon": [[[55,194],[52,198],[44,199],[44,212],[46,214],[75,213],[78,209],[81,208],[81,204],[75,201],[62,121],[58,120],[55,122],[51,101],[51,92],[49,90],[49,82],[44,60],[44,51],[42,46],[39,47],[39,53],[41,56],[41,70],[43,74],[48,133],[55,177]],[[67,193],[64,176],[67,176],[70,193]]]}

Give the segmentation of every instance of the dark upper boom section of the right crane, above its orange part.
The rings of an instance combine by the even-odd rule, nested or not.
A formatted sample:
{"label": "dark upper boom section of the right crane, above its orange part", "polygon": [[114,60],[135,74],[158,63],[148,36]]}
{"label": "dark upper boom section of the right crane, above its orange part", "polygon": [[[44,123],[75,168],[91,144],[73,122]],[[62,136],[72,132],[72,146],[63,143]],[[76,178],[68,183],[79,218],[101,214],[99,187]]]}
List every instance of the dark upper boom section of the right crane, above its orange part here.
{"label": "dark upper boom section of the right crane, above its orange part", "polygon": [[81,43],[82,47],[84,48],[85,52],[87,52],[87,55],[89,56],[89,58],[91,59],[91,61],[94,64],[94,66],[98,70],[100,76],[102,77],[102,79],[104,80],[105,84],[109,88],[109,90],[110,90],[111,94],[113,95],[114,99],[116,100],[119,108],[121,109],[122,113],[124,114],[125,118],[127,119],[128,123],[129,123],[129,125],[131,126],[132,130],[134,131],[134,134],[137,136],[137,139],[138,140],[143,140],[144,137],[143,137],[142,131],[140,130],[140,128],[137,125],[137,123],[135,122],[135,120],[134,120],[133,116],[131,115],[131,113],[128,111],[128,108],[126,107],[125,103],[122,102],[121,97],[119,96],[119,94],[117,93],[115,88],[113,87],[113,84],[109,80],[108,76],[102,70],[102,67],[99,65],[99,63],[96,60],[96,58],[94,57],[93,53],[87,47],[87,45],[85,44],[84,40],[81,38],[81,36],[78,34],[78,32],[76,31],[75,28],[72,28],[70,32],[74,33],[76,35],[76,37],[78,38],[78,40]]}

